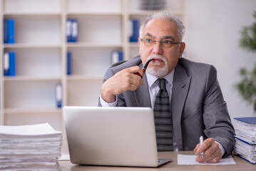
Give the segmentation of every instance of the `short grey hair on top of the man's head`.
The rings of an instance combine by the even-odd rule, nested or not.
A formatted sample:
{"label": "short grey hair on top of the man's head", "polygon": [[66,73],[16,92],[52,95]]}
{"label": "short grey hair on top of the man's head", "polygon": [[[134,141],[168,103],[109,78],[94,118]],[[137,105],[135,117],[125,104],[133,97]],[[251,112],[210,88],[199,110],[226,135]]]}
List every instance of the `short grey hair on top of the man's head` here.
{"label": "short grey hair on top of the man's head", "polygon": [[180,21],[180,19],[178,19],[178,17],[174,16],[173,14],[170,14],[168,12],[158,12],[155,14],[151,14],[149,16],[147,16],[145,18],[144,21],[141,22],[140,24],[140,38],[142,38],[142,34],[143,34],[143,29],[145,28],[145,25],[148,24],[148,21],[152,20],[152,19],[163,19],[165,21],[173,21],[173,23],[177,26],[178,28],[178,37],[180,38],[179,41],[184,41],[184,36],[185,36],[185,26],[183,24],[182,21]]}

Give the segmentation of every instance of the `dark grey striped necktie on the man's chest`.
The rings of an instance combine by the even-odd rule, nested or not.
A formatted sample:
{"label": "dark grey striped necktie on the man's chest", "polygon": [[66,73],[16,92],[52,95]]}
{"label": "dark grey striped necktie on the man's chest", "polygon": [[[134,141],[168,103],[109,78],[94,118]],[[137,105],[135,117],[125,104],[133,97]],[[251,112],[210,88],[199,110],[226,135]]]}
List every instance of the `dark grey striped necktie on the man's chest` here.
{"label": "dark grey striped necktie on the man's chest", "polygon": [[158,78],[160,90],[155,97],[154,118],[158,151],[173,151],[173,128],[170,115],[170,100],[165,87],[165,78]]}

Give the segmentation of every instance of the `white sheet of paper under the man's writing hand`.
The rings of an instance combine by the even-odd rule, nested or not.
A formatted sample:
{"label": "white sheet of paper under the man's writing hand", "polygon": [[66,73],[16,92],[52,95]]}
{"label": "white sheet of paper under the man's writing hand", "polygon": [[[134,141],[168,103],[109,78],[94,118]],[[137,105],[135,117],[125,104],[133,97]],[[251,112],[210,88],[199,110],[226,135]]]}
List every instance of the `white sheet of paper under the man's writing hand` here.
{"label": "white sheet of paper under the man's writing hand", "polygon": [[196,162],[195,155],[178,155],[178,165],[236,165],[232,156],[220,159],[217,163]]}

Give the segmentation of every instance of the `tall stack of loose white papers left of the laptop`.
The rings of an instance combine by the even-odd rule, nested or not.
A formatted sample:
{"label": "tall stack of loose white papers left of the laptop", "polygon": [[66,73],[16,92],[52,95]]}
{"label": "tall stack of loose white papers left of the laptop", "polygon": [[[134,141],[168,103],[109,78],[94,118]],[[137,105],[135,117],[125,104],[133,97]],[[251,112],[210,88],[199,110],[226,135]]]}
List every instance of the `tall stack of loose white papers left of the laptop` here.
{"label": "tall stack of loose white papers left of the laptop", "polygon": [[0,170],[60,170],[61,141],[48,123],[0,125]]}

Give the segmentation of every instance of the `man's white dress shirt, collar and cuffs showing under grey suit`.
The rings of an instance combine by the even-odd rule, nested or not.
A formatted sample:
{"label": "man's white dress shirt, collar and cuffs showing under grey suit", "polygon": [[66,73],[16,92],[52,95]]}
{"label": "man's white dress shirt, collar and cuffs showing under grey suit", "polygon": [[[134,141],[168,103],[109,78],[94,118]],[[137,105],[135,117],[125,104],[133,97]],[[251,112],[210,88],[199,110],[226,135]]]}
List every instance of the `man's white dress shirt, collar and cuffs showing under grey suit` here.
{"label": "man's white dress shirt, collar and cuffs showing under grey suit", "polygon": [[[172,88],[173,88],[173,75],[174,75],[174,71],[173,70],[171,73],[169,73],[167,76],[163,77],[166,80],[166,90],[168,91],[168,95],[169,95],[169,100],[171,100],[172,97]],[[147,76],[147,80],[148,80],[148,89],[149,89],[149,95],[150,95],[150,102],[151,102],[151,107],[152,109],[154,109],[154,105],[155,105],[155,97],[158,94],[158,91],[160,90],[160,88],[158,87],[158,85],[155,83],[155,81],[158,79],[157,77],[151,75],[150,73],[147,72],[146,74]],[[107,103],[105,100],[103,100],[103,98],[101,98],[100,95],[100,102],[101,105],[103,107],[116,107],[117,105],[117,98],[116,101],[113,103]],[[217,142],[217,141],[215,141]],[[199,139],[198,139],[198,143],[199,143]],[[221,150],[221,154],[224,155],[225,150],[222,147],[222,145],[217,142],[217,144],[220,147]],[[175,140],[175,135],[173,132],[173,151],[178,151],[178,147],[177,147],[177,142]]]}

